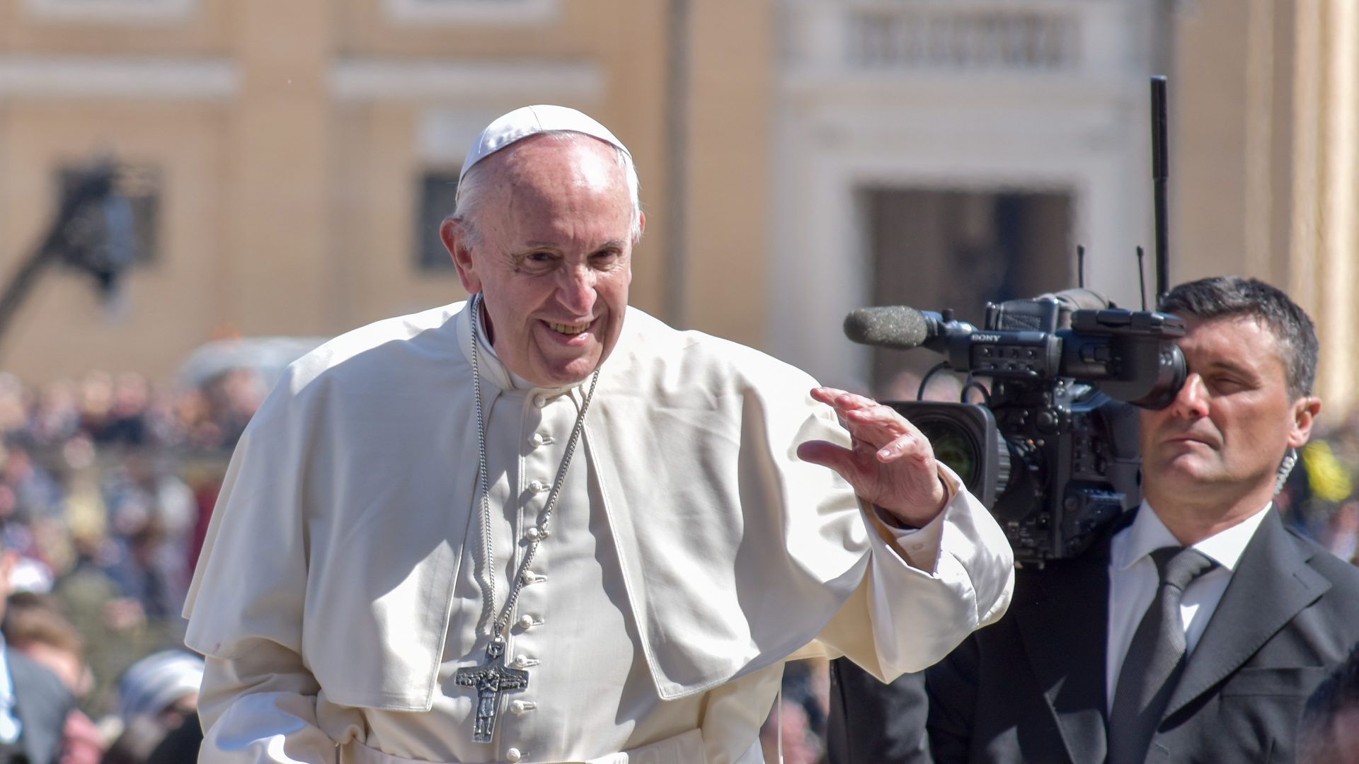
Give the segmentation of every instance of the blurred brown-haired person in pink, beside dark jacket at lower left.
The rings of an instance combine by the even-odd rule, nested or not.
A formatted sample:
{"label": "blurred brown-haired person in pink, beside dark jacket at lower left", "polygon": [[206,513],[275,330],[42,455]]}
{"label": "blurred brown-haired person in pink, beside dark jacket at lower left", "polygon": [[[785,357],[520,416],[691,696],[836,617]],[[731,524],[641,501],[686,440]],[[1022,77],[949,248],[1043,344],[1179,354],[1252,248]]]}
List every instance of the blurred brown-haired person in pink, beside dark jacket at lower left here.
{"label": "blurred brown-haired person in pink, beside dark jacket at lower left", "polygon": [[[4,638],[11,647],[57,674],[75,697],[84,697],[94,688],[80,635],[53,597],[27,591],[11,594]],[[60,764],[98,764],[107,748],[90,716],[72,708],[61,735]]]}

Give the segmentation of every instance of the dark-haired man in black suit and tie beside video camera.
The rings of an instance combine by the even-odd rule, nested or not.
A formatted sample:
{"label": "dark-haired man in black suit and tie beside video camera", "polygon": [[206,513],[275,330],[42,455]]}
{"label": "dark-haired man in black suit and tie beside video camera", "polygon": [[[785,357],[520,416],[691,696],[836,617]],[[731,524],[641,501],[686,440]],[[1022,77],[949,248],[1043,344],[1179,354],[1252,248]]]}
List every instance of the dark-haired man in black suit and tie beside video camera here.
{"label": "dark-haired man in black suit and tie beside video camera", "polygon": [[[1294,760],[1307,695],[1359,640],[1359,570],[1272,510],[1321,405],[1317,338],[1253,279],[1181,284],[1161,310],[1185,319],[1189,375],[1142,412],[1142,507],[1084,555],[1019,571],[1004,619],[924,682],[836,666],[832,761]],[[904,723],[866,729],[883,703]]]}

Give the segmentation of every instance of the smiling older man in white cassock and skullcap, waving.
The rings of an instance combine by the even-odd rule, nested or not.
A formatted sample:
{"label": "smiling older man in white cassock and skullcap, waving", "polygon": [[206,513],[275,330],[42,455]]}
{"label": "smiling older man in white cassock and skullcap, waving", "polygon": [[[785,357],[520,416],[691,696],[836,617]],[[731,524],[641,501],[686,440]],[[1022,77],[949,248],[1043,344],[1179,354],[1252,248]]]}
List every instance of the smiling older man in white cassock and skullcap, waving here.
{"label": "smiling older man in white cassock and skullcap, waving", "polygon": [[810,640],[890,680],[1000,617],[1004,536],[908,421],[628,307],[607,129],[519,109],[462,173],[473,299],[298,360],[236,447],[200,761],[753,764]]}

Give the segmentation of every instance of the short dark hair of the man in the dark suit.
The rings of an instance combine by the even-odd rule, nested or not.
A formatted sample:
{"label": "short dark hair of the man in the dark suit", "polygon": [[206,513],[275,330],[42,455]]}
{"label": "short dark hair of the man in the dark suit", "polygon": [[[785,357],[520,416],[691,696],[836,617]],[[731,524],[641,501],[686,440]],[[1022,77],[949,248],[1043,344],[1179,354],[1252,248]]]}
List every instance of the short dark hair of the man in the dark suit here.
{"label": "short dark hair of the man in the dark suit", "polygon": [[1317,377],[1317,330],[1298,303],[1279,288],[1257,279],[1214,276],[1170,290],[1159,310],[1181,318],[1256,318],[1279,340],[1288,397],[1301,398],[1311,393]]}

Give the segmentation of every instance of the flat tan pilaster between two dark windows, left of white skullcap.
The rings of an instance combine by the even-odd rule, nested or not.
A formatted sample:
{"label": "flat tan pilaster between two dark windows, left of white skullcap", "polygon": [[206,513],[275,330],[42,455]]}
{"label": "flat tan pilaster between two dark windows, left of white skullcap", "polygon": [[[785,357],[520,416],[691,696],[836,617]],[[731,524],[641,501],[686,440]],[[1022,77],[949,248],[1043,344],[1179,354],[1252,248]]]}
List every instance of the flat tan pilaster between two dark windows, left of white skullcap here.
{"label": "flat tan pilaster between two dark windows, left of white skullcap", "polygon": [[[232,3],[241,95],[227,141],[222,314],[242,333],[325,333],[330,3]],[[264,193],[268,189],[268,193]]]}

